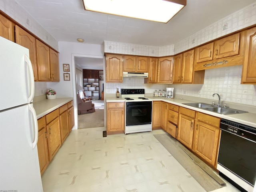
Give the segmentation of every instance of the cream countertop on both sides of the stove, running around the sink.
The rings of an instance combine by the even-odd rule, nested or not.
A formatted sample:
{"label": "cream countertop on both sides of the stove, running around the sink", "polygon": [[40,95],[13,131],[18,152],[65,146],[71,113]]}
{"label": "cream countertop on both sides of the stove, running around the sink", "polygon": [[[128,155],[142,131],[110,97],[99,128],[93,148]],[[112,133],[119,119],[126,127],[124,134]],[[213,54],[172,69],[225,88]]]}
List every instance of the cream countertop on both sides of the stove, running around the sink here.
{"label": "cream countertop on both sides of the stove, running around the sink", "polygon": [[[146,96],[146,97],[152,99],[153,101],[164,101],[164,102],[172,103],[172,104],[182,106],[182,107],[185,107],[188,109],[192,109],[192,110],[195,110],[198,112],[202,112],[202,113],[216,116],[219,118],[224,118],[224,119],[227,119],[230,121],[238,122],[238,123],[245,124],[245,125],[252,126],[252,127],[256,128],[256,113],[248,112],[248,113],[241,113],[241,114],[222,115],[222,114],[218,114],[215,112],[210,112],[210,111],[207,111],[204,109],[200,109],[200,108],[182,104],[182,103],[196,103],[196,102],[200,102],[200,100],[192,101],[192,100],[186,100],[186,99],[182,99],[182,98],[168,99],[166,97],[151,97],[151,96]],[[198,98],[198,99],[200,99],[200,98]],[[106,98],[106,102],[125,102],[125,100],[123,98],[109,97],[109,98]],[[237,108],[237,109],[243,110],[241,108]],[[247,111],[247,110],[245,110],[245,111]]]}

